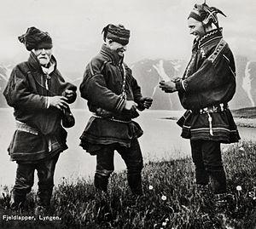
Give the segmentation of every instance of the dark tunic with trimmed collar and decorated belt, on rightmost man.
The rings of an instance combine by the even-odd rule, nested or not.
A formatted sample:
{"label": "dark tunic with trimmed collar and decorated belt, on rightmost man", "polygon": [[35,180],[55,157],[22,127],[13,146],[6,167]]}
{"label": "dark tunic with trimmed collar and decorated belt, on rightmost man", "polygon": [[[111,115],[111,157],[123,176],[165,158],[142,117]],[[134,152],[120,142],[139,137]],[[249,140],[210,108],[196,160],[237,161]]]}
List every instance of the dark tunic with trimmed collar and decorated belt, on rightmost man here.
{"label": "dark tunic with trimmed collar and decorated belt, on rightmost man", "polygon": [[177,122],[183,138],[223,143],[240,139],[228,107],[236,91],[235,61],[221,30],[209,31],[195,41],[189,65],[176,86],[187,109]]}

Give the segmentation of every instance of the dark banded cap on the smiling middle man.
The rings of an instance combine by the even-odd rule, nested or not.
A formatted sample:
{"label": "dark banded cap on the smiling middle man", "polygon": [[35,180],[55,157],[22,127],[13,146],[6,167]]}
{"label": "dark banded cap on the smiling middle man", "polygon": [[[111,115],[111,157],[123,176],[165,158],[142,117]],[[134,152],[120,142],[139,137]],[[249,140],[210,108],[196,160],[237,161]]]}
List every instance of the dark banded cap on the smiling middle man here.
{"label": "dark banded cap on the smiling middle man", "polygon": [[129,43],[130,31],[125,29],[125,26],[108,24],[102,30],[104,41],[106,38],[114,42],[126,45]]}

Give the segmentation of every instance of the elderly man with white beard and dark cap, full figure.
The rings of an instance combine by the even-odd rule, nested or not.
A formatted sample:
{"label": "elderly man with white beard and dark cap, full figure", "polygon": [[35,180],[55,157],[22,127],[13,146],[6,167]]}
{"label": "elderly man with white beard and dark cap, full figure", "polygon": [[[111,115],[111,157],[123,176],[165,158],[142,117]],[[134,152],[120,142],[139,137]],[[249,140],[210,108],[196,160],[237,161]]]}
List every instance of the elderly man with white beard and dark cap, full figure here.
{"label": "elderly man with white beard and dark cap, full figure", "polygon": [[[36,213],[49,209],[55,164],[67,149],[67,131],[74,118],[68,104],[76,99],[76,86],[57,70],[49,33],[30,27],[19,37],[30,51],[27,61],[15,66],[3,94],[14,107],[16,130],[9,155],[17,163],[11,208],[20,209],[31,192],[38,171]],[[63,126],[63,127],[62,127]]]}

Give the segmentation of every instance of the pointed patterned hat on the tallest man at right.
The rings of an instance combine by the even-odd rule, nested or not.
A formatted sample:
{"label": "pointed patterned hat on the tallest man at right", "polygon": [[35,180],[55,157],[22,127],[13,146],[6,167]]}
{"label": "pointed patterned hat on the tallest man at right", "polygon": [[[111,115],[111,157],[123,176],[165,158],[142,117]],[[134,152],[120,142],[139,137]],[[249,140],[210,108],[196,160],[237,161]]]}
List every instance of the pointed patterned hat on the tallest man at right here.
{"label": "pointed patterned hat on the tallest man at right", "polygon": [[215,7],[209,7],[206,3],[195,4],[194,9],[189,14],[189,18],[194,18],[195,20],[201,21],[204,25],[211,25],[212,23],[218,27],[218,17],[217,14],[226,15],[219,9]]}

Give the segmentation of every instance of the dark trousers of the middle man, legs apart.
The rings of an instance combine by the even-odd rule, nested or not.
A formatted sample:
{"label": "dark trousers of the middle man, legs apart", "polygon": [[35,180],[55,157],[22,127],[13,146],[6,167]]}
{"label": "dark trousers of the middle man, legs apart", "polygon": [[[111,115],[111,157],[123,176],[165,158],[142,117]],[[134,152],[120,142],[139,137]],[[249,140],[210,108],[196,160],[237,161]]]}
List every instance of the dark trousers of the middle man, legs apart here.
{"label": "dark trousers of the middle man, legs apart", "polygon": [[119,144],[112,144],[102,146],[100,152],[96,154],[96,175],[95,186],[104,192],[107,192],[108,178],[113,173],[113,155],[114,151],[119,152],[125,161],[127,168],[127,180],[131,187],[131,192],[134,194],[141,194],[143,169],[143,155],[139,146],[138,140],[131,142],[131,147],[119,146]]}

